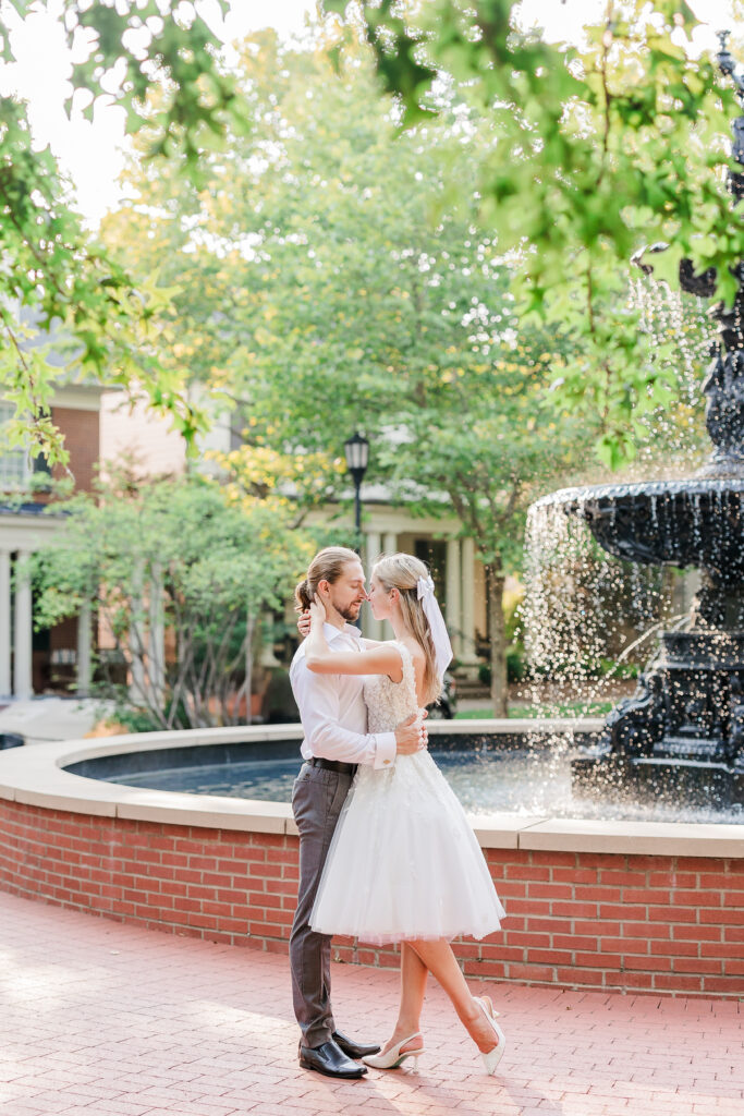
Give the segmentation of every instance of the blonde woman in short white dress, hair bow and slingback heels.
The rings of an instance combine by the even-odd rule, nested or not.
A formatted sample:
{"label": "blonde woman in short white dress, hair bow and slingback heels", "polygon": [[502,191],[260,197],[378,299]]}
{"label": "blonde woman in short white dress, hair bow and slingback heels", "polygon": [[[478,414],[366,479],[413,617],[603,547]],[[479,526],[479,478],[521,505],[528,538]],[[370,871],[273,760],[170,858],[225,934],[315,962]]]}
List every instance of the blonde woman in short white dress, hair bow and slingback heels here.
{"label": "blonde woman in short white dress, hair bow and slingback heels", "polygon": [[[388,619],[395,639],[366,641],[369,650],[332,653],[323,634],[326,612],[310,606],[306,662],[321,674],[364,674],[369,732],[385,732],[435,701],[452,658],[434,584],[410,555],[380,558],[369,602]],[[398,756],[395,766],[360,766],[326,860],[310,924],[321,934],[364,942],[400,943],[400,1006],[380,1054],[363,1060],[392,1069],[418,1058],[427,973],[445,990],[494,1074],[505,1039],[489,997],[473,997],[450,940],[484,937],[504,911],[475,835],[428,751]],[[417,1065],[417,1061],[416,1061]]]}

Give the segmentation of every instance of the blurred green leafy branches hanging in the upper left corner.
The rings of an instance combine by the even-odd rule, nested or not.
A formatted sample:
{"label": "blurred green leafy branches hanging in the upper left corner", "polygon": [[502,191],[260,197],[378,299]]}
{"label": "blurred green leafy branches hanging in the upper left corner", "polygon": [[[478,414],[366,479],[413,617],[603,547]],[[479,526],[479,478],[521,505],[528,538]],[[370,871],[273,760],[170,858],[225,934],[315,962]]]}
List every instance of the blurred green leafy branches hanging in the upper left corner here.
{"label": "blurred green leafy branches hanging in the upper left corner", "polygon": [[[228,4],[218,7],[224,12]],[[13,61],[18,22],[40,10],[56,15],[76,48],[71,80],[74,93],[90,95],[86,113],[99,97],[120,105],[129,134],[146,126],[149,157],[170,156],[180,173],[197,179],[205,146],[219,146],[228,119],[233,131],[247,127],[244,104],[218,62],[219,40],[191,4],[3,0],[0,65]],[[0,383],[16,407],[3,432],[10,443],[26,442],[51,462],[67,460],[50,402],[70,368],[106,383],[136,382],[191,440],[203,419],[178,373],[163,366],[162,338],[152,327],[166,294],[152,278],[135,282],[85,230],[51,152],[33,146],[27,105],[8,96],[0,97]],[[56,348],[66,343],[67,368],[38,344],[50,333]]]}

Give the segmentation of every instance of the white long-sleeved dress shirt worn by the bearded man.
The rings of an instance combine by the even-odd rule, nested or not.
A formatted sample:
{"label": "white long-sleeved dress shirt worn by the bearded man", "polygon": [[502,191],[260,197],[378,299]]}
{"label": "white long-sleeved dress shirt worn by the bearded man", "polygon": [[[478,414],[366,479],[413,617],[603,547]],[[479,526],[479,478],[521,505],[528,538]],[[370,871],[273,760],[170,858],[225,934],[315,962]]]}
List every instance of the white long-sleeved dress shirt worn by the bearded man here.
{"label": "white long-sleeved dress shirt worn by the bearded man", "polygon": [[[337,628],[326,623],[323,635],[336,653],[363,650],[359,629],[351,624]],[[289,677],[305,729],[302,759],[317,756],[376,768],[395,762],[395,733],[367,732],[363,674],[315,674],[305,662],[302,643],[292,658]]]}

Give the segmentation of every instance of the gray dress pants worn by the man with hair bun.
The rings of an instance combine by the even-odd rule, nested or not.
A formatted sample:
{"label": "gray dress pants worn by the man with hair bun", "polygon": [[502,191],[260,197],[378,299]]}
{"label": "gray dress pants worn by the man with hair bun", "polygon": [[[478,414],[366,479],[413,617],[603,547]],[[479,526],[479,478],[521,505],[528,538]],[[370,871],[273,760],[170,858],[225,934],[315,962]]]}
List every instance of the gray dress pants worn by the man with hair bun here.
{"label": "gray dress pants worn by the man with hair bun", "polygon": [[294,780],[292,811],[300,833],[300,882],[289,939],[292,1001],[302,1031],[302,1045],[328,1042],[336,1030],[330,1007],[330,935],[310,930],[323,864],[351,775],[303,763]]}

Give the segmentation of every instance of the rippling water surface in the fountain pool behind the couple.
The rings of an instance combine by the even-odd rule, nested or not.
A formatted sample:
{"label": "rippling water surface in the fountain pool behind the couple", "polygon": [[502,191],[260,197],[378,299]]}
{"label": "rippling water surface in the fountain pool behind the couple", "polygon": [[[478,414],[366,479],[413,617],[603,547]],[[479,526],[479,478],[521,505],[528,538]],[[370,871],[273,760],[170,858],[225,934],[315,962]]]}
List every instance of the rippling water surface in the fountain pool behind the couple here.
{"label": "rippling water surface in the fountain pool behind the couple", "polygon": [[[697,798],[680,804],[656,795],[644,802],[615,798],[611,804],[571,786],[572,757],[596,750],[599,722],[545,728],[550,722],[442,722],[432,731],[429,750],[465,810],[490,815],[616,821],[733,822],[744,826],[744,809],[731,798],[711,805]],[[497,730],[494,729],[497,724]],[[521,725],[526,724],[525,730]],[[555,723],[553,723],[555,724]],[[514,728],[516,725],[516,728]],[[576,761],[574,761],[576,762]],[[288,802],[300,766],[298,740],[191,744],[108,752],[66,764],[66,771],[129,789],[212,798]],[[743,833],[744,836],[744,833]]]}

